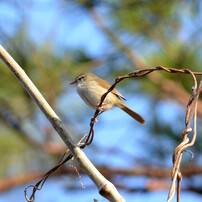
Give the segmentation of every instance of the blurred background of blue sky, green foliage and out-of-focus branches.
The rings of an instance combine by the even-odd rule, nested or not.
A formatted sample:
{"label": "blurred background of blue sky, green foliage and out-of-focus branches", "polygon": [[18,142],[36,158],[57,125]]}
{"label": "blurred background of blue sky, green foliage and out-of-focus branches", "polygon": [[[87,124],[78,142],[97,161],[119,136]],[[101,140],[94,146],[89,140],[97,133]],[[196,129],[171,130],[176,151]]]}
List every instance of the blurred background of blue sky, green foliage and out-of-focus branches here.
{"label": "blurred background of blue sky, green foliage and out-of-focus branches", "polygon": [[[78,142],[94,113],[69,85],[78,74],[92,72],[112,84],[118,76],[158,65],[201,71],[201,21],[200,1],[1,0],[0,43]],[[85,153],[126,201],[166,201],[192,86],[191,76],[162,71],[124,80],[117,89],[146,124],[120,109],[99,116]],[[194,158],[185,152],[182,159],[183,202],[202,199],[201,117],[200,97],[198,136],[190,148]],[[0,61],[0,202],[26,201],[24,188],[56,165],[65,150]],[[74,166],[70,161],[59,169],[35,201],[106,201]]]}

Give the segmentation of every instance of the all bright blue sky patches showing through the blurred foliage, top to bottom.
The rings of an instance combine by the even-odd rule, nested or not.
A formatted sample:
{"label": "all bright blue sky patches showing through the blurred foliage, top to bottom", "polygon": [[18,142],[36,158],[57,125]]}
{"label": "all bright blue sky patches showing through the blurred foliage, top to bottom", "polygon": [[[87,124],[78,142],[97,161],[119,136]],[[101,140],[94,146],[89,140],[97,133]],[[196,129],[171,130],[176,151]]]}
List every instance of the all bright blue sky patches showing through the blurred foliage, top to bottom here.
{"label": "all bright blue sky patches showing through the blurred foliage, top to bottom", "polygon": [[[88,51],[88,53],[94,57],[102,56],[107,51],[108,43],[107,38],[99,31],[99,29],[92,22],[91,18],[88,15],[85,15],[84,12],[77,11],[73,12],[73,7],[68,7],[67,9],[63,8],[63,5],[58,4],[56,0],[34,0],[33,4],[31,3],[28,10],[25,10],[28,21],[28,30],[31,38],[38,44],[45,43],[48,39],[53,39],[53,44],[55,45],[56,51],[58,53],[62,52],[62,48],[84,48]],[[15,19],[16,24],[8,25],[7,32],[11,35],[15,31],[15,26],[18,25],[18,13],[12,6],[5,6],[6,3],[0,3],[0,17],[5,19],[5,23],[8,19]],[[29,3],[28,3],[29,5]],[[58,9],[59,8],[59,9]],[[53,26],[54,25],[54,26]],[[183,33],[181,33],[182,36]],[[185,37],[185,36],[184,36]],[[185,37],[186,39],[186,37]],[[72,88],[70,91],[73,98],[75,98],[76,102],[82,110],[86,110],[89,113],[89,120],[91,115],[93,114],[93,110],[86,107],[82,104],[82,100],[76,95],[76,90]],[[60,104],[62,106],[68,107],[71,105],[71,100],[66,101],[68,94],[63,95],[64,101],[61,101]],[[137,97],[127,97],[127,104],[131,108],[136,108],[137,111],[146,117],[147,124],[152,121],[149,117],[149,113],[151,113],[151,109],[149,108],[149,99],[143,95],[138,95]],[[135,106],[135,107],[134,107]],[[169,109],[169,110],[168,110]],[[157,109],[162,122],[169,122],[171,119],[175,119],[176,115],[183,112],[183,108],[177,104],[171,104],[170,102],[162,101]],[[123,118],[124,117],[124,118]],[[146,153],[142,153],[141,147],[144,145],[147,147],[146,142],[142,140],[142,136],[150,138],[150,143],[155,141],[152,139],[150,134],[147,134],[147,130],[143,127],[140,127],[138,123],[133,123],[130,117],[125,115],[120,109],[114,109],[110,112],[104,113],[101,117],[99,117],[99,122],[96,123],[95,131],[96,136],[94,139],[94,144],[99,145],[102,148],[110,148],[111,144],[119,145],[120,143],[124,147],[124,152],[131,153],[136,156],[140,153],[143,156],[146,156]],[[134,136],[134,131],[132,131],[131,125],[135,125],[137,128]],[[104,127],[103,127],[104,126]],[[113,128],[114,126],[122,126]],[[83,124],[78,124],[78,127],[81,128],[81,131],[88,131],[88,121],[84,127]],[[84,127],[84,128],[83,128]],[[180,127],[180,126],[178,126]],[[103,141],[106,140],[107,141]],[[144,138],[143,138],[144,139]],[[134,144],[135,143],[135,144]],[[134,146],[135,145],[135,146]],[[134,148],[135,147],[135,148]],[[169,147],[169,145],[168,145]],[[113,164],[113,166],[132,166],[134,162],[124,159],[121,156],[107,156],[104,152],[98,151],[98,154],[92,155],[92,151],[90,149],[86,149],[87,155],[93,161],[102,162],[103,164]],[[106,158],[109,158],[106,161]],[[147,157],[147,156],[146,156]],[[166,165],[171,166],[171,157],[168,159],[168,162],[165,162]],[[133,180],[137,185],[144,184],[144,179],[142,178],[132,178],[132,181],[127,181],[127,183],[133,184]],[[68,177],[67,177],[67,181]],[[91,184],[91,181],[87,177],[83,177],[84,186],[86,184]],[[125,182],[126,183],[126,182]],[[106,201],[101,198],[95,188],[90,190],[78,190],[72,192],[64,189],[66,182],[63,178],[50,179],[45,184],[44,189],[37,193],[36,202],[63,202],[66,200],[73,201],[92,201],[92,197],[99,199],[99,201]],[[24,199],[24,188],[26,185],[16,187],[11,189],[8,192],[0,193],[0,202],[14,202],[16,198],[20,201],[25,201]],[[54,192],[49,192],[47,190],[54,190]],[[47,192],[48,194],[47,194]],[[126,197],[127,201],[165,201],[167,198],[167,191],[162,192],[153,192],[153,193],[127,193],[123,191],[124,197]],[[199,195],[183,193],[181,200],[183,202],[192,201],[194,198],[195,202],[201,201],[201,197]]]}

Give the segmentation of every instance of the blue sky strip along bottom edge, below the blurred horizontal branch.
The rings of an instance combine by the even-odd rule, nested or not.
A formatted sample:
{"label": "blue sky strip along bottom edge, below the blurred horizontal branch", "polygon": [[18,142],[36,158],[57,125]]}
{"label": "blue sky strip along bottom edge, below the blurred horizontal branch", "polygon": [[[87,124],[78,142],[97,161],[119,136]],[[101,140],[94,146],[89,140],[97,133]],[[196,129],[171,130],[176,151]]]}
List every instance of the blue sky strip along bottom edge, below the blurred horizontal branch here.
{"label": "blue sky strip along bottom edge, below the blurred horizontal branch", "polygon": [[[142,183],[141,180],[133,179]],[[42,191],[37,192],[35,202],[64,202],[64,201],[71,201],[71,202],[89,202],[93,201],[94,198],[98,199],[99,202],[106,202],[106,199],[103,199],[97,192],[96,188],[91,189],[78,189],[76,191],[65,189],[67,184],[70,180],[68,177],[60,177],[58,179],[49,179],[49,182],[44,185]],[[82,182],[88,185],[92,185],[92,183],[86,178],[82,176]],[[77,181],[77,183],[79,183]],[[0,202],[16,202],[16,198],[20,202],[26,202],[24,198],[24,186],[16,187],[9,190],[6,193],[0,193]],[[143,186],[143,184],[142,184]],[[78,187],[81,185],[78,184]],[[51,191],[50,191],[51,190]],[[47,194],[48,193],[48,194]],[[143,201],[150,201],[150,202],[162,202],[166,201],[167,199],[167,191],[154,191],[149,193],[128,193],[125,191],[121,191],[121,194],[125,197],[126,201],[133,202],[143,202]],[[181,201],[183,202],[201,202],[201,197],[197,194],[193,193],[181,193]],[[176,201],[174,198],[173,202]]]}

